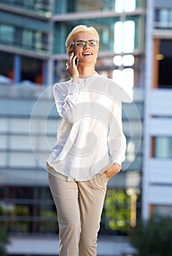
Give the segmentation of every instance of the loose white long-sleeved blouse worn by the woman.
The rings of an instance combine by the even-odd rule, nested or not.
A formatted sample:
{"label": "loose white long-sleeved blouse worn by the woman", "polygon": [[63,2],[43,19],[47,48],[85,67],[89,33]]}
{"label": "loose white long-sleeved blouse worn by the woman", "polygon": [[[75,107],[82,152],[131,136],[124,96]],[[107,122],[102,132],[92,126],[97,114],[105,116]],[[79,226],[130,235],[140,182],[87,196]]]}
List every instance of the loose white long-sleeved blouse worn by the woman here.
{"label": "loose white long-sleeved blouse worn by the woman", "polygon": [[126,140],[120,87],[95,72],[87,79],[79,78],[79,83],[55,83],[53,94],[61,120],[47,159],[50,170],[67,176],[68,181],[87,181],[109,162],[122,165]]}

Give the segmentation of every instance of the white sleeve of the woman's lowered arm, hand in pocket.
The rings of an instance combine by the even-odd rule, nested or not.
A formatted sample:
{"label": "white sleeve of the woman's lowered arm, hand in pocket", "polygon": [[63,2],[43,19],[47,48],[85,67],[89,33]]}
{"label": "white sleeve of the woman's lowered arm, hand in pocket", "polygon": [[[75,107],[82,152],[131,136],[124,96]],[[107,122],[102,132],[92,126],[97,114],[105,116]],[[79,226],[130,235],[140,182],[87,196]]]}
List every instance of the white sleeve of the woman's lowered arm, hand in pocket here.
{"label": "white sleeve of the woman's lowered arm, hand in pocket", "polygon": [[112,162],[122,165],[122,162],[125,160],[126,139],[122,132],[122,100],[120,87],[117,86],[117,90],[115,91],[112,113],[110,113],[109,116],[108,143]]}

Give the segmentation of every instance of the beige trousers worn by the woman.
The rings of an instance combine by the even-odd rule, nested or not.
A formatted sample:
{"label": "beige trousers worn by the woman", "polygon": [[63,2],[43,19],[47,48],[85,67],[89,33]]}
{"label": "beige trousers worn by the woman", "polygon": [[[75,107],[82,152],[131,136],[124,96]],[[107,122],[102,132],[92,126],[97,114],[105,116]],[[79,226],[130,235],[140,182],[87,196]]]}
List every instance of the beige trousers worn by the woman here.
{"label": "beige trousers worn by the woman", "polygon": [[49,173],[49,182],[58,212],[59,255],[96,256],[106,174],[89,181],[66,181]]}

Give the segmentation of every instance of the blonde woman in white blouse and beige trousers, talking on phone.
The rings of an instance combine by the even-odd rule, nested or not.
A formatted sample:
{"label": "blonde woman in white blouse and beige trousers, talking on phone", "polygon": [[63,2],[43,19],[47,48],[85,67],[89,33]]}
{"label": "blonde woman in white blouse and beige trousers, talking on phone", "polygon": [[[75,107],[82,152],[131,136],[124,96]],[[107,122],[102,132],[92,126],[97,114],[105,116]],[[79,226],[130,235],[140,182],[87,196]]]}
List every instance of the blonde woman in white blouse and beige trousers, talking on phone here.
{"label": "blonde woman in white blouse and beige trousers, talking on phone", "polygon": [[76,26],[66,39],[71,79],[53,87],[62,119],[47,167],[58,212],[60,256],[96,255],[107,181],[125,159],[120,88],[95,72],[98,45],[93,27]]}

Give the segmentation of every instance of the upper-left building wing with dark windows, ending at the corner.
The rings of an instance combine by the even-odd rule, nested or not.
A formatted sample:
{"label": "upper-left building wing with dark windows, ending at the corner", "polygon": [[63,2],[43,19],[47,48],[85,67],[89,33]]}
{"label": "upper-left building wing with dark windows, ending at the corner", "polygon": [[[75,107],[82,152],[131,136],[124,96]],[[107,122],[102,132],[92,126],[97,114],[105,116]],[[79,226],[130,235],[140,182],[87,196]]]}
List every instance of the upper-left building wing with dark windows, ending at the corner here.
{"label": "upper-left building wing with dark windows, ending at the corner", "polygon": [[50,56],[50,1],[0,2],[1,75],[14,83],[47,83]]}

